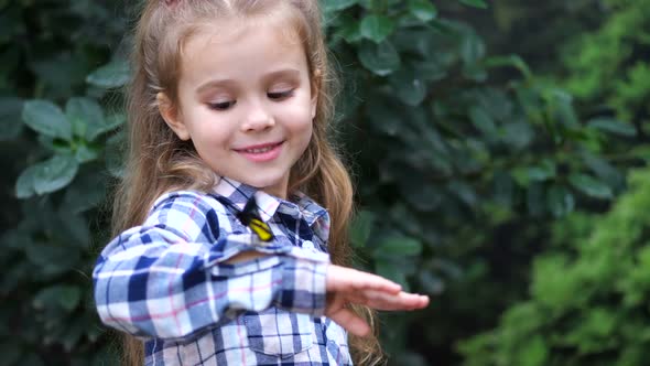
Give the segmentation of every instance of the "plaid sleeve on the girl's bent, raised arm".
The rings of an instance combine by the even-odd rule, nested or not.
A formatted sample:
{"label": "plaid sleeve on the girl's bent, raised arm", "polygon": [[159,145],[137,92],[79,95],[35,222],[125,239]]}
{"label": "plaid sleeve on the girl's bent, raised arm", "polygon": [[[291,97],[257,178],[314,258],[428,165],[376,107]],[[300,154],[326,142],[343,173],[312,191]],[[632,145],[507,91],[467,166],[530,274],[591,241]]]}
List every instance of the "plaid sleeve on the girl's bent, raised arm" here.
{"label": "plaid sleeve on the girl's bent, raised arm", "polygon": [[[188,340],[246,311],[323,314],[327,255],[224,227],[230,223],[216,200],[192,192],[159,200],[142,226],[116,237],[97,260],[101,321],[142,338]],[[227,262],[248,250],[268,256]]]}

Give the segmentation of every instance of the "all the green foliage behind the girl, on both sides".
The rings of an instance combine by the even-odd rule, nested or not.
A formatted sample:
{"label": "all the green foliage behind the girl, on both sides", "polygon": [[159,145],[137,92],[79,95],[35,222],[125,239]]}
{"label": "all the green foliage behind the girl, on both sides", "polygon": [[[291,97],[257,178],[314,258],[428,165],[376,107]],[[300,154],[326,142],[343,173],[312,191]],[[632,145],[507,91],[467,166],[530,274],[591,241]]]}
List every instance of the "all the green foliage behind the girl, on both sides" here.
{"label": "all the green foliage behind the girl, on both sides", "polygon": [[[120,175],[134,7],[0,0],[7,365],[117,363],[89,276]],[[338,137],[358,186],[357,266],[433,297],[425,311],[382,316],[390,363],[593,364],[607,354],[641,365],[647,337],[626,334],[647,333],[630,325],[647,320],[642,179],[616,201],[649,151],[648,1],[324,8],[345,85]],[[551,14],[554,28],[530,28]],[[626,227],[638,229],[615,235]]]}

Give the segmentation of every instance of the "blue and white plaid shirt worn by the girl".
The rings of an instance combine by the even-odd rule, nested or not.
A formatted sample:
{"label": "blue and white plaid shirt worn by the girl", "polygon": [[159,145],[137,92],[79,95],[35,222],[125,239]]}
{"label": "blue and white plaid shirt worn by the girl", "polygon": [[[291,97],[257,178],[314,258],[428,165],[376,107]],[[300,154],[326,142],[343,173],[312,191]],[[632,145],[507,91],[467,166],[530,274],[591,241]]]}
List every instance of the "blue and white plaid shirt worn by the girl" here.
{"label": "blue and white plaid shirt worn by the girl", "polygon": [[[241,209],[253,194],[271,243],[217,201]],[[145,342],[145,365],[351,365],[347,333],[323,316],[328,234],[329,215],[304,195],[228,179],[210,194],[169,193],[101,252],[97,311]],[[269,256],[226,262],[247,250]]]}

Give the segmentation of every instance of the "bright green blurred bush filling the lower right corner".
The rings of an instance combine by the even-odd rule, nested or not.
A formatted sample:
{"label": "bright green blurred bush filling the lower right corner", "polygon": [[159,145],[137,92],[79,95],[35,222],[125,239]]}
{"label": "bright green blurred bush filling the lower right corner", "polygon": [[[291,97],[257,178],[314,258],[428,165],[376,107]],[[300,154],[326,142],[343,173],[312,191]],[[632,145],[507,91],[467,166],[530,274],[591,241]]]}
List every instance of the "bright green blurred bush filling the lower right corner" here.
{"label": "bright green blurred bush filling the lower right corner", "polygon": [[530,297],[461,344],[466,365],[646,365],[650,357],[650,171],[603,215],[554,227]]}

